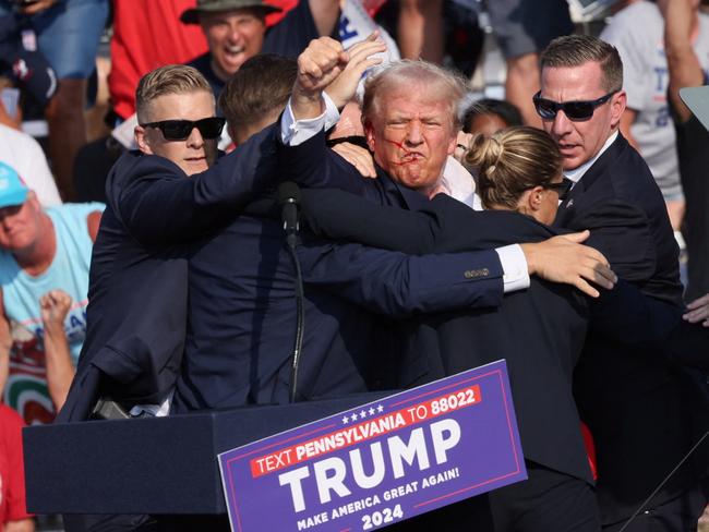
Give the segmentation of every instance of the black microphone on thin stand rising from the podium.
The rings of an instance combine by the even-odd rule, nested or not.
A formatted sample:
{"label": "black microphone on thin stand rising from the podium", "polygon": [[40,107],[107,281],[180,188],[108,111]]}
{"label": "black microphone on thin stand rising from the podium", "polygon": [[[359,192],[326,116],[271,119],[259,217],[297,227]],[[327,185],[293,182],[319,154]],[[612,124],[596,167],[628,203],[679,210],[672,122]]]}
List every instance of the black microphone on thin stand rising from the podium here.
{"label": "black microphone on thin stand rising from the podium", "polygon": [[296,402],[298,399],[298,366],[300,364],[300,355],[303,350],[303,332],[305,313],[303,310],[303,276],[300,270],[300,261],[298,261],[298,253],[296,246],[298,245],[298,206],[300,203],[300,189],[292,181],[286,181],[278,185],[278,205],[281,207],[280,218],[284,222],[284,231],[286,232],[286,242],[290,258],[293,263],[295,269],[295,288],[296,288],[296,338],[293,339],[293,351],[291,356],[290,366],[290,386],[288,397],[290,402]]}

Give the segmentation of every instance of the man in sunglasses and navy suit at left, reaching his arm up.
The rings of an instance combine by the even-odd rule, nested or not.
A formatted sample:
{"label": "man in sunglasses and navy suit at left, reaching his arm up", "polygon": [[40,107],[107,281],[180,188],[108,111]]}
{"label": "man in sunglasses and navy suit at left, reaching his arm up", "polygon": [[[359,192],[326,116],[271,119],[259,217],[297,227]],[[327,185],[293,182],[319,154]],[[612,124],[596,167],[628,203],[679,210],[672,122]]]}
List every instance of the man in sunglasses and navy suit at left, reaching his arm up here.
{"label": "man in sunglasses and navy suit at left, reaching his arm up", "polygon": [[[63,421],[88,418],[101,396],[167,411],[187,323],[182,244],[215,226],[215,205],[238,210],[268,184],[254,179],[271,130],[215,164],[224,119],[215,117],[209,84],[195,69],[167,65],[146,74],[136,102],[139,150],[124,154],[107,181],[91,271],[91,325],[59,414]],[[171,202],[177,207],[167,217],[158,207]]]}

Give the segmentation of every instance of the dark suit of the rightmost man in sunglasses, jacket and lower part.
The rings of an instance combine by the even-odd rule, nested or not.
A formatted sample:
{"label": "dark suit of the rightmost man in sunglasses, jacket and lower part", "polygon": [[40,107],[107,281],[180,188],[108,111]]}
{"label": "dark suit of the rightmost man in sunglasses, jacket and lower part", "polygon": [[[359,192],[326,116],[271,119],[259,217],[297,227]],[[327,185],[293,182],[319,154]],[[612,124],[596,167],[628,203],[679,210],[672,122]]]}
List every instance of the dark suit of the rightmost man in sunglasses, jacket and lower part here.
{"label": "dark suit of the rightmost man in sunglasses, jacket and lower part", "polygon": [[[630,220],[625,214],[633,210]],[[646,162],[622,135],[574,186],[555,226],[590,229],[589,243],[618,276],[681,306],[678,249],[662,195]],[[649,351],[592,335],[577,370],[576,398],[598,448],[598,495],[605,523],[627,518],[694,442],[687,416],[696,402],[687,398],[688,383],[661,358],[648,356]],[[652,504],[670,500],[693,482],[693,471],[685,467]]]}

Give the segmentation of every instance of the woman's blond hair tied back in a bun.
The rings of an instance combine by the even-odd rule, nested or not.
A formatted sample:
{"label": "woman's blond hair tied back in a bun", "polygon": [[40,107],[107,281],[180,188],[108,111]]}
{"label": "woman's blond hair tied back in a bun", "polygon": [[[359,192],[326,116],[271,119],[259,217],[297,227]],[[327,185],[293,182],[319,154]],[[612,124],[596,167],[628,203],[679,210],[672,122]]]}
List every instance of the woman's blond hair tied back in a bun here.
{"label": "woman's blond hair tied back in a bun", "polygon": [[552,182],[562,173],[563,158],[548,133],[520,125],[486,137],[476,135],[466,164],[478,174],[478,194],[485,208],[517,209],[526,190]]}

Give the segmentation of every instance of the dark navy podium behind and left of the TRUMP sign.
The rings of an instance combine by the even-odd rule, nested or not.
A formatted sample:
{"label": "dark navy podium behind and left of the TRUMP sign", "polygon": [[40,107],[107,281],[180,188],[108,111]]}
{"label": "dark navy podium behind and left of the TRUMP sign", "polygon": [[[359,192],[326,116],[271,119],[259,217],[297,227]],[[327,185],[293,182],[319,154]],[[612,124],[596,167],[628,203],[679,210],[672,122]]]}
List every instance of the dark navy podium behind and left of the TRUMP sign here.
{"label": "dark navy podium behind and left of the TRUMP sign", "polygon": [[23,430],[34,513],[226,513],[217,455],[384,392]]}

